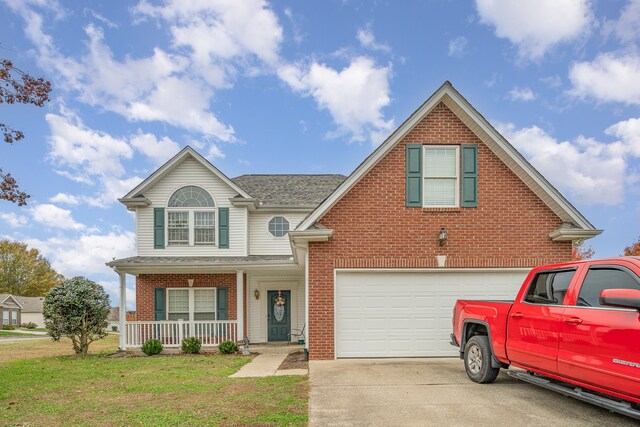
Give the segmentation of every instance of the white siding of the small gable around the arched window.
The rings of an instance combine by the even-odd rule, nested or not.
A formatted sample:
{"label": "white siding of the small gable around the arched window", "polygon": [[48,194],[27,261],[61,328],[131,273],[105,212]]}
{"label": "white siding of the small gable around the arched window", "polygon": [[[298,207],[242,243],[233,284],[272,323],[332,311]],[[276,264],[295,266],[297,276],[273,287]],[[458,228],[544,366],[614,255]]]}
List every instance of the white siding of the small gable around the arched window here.
{"label": "white siding of the small gable around the arched window", "polygon": [[[207,190],[215,201],[216,208],[229,208],[229,248],[219,249],[214,245],[167,245],[164,249],[153,248],[153,208],[165,208],[169,197],[181,187],[194,185]],[[211,173],[197,160],[187,157],[163,179],[145,192],[151,205],[137,208],[137,238],[139,256],[245,256],[247,255],[247,209],[231,206],[230,198],[237,192]],[[216,212],[217,215],[217,212]],[[214,221],[217,222],[217,216]],[[218,236],[214,236],[217,241]],[[287,242],[288,244],[288,242]]]}

